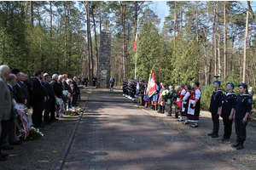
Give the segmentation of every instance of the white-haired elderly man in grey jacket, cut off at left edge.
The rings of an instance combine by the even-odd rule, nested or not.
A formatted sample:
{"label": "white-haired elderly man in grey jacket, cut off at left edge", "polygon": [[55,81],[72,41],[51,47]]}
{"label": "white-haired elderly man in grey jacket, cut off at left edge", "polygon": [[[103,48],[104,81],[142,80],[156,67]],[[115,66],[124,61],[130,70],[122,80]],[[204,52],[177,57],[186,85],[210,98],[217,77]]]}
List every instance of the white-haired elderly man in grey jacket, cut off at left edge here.
{"label": "white-haired elderly man in grey jacket, cut off at left edge", "polygon": [[[9,92],[9,87],[6,83],[6,79],[9,77],[10,69],[7,65],[0,65],[0,131],[1,138],[0,144],[3,144],[9,133],[9,126],[11,120],[12,111],[12,98]],[[7,154],[3,154],[0,148],[0,161],[6,160]]]}

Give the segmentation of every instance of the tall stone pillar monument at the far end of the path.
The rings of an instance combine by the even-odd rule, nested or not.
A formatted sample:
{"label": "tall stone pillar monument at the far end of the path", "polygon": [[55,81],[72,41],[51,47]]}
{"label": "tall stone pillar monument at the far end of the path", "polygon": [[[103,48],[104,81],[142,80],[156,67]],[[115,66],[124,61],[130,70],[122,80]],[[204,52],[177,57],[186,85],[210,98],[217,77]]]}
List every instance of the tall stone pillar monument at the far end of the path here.
{"label": "tall stone pillar monument at the far end of the path", "polygon": [[97,88],[109,88],[111,31],[108,30],[109,20],[103,20],[104,28],[100,35],[100,54],[97,72]]}

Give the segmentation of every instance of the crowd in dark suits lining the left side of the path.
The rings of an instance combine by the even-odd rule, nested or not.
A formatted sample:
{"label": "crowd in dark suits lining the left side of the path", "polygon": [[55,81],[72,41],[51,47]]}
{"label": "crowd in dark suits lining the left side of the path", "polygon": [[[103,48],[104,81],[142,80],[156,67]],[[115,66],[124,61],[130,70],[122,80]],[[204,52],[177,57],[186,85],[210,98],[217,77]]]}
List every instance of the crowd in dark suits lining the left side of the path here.
{"label": "crowd in dark suits lining the left side of the path", "polygon": [[18,69],[10,70],[8,65],[0,65],[0,161],[7,160],[8,154],[1,150],[13,150],[12,144],[22,144],[17,137],[14,106],[26,105],[32,108],[32,124],[44,128],[58,121],[56,117],[55,99],[63,98],[63,90],[67,90],[72,98],[68,108],[77,106],[79,99],[79,78],[68,78],[67,74],[52,77],[48,73],[35,71],[34,77],[28,78],[26,73]]}

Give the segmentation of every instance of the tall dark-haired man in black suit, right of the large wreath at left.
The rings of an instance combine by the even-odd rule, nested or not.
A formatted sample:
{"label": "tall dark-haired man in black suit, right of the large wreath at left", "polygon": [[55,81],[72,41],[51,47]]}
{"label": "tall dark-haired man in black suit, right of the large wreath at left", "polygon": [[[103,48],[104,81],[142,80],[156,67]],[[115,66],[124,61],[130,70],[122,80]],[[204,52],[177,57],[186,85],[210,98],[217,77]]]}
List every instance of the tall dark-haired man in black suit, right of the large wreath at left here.
{"label": "tall dark-haired man in black suit, right of the large wreath at left", "polygon": [[41,80],[43,80],[43,72],[36,71],[35,78],[32,82],[32,122],[35,127],[44,127],[42,122],[42,114],[44,111],[44,102],[46,95]]}

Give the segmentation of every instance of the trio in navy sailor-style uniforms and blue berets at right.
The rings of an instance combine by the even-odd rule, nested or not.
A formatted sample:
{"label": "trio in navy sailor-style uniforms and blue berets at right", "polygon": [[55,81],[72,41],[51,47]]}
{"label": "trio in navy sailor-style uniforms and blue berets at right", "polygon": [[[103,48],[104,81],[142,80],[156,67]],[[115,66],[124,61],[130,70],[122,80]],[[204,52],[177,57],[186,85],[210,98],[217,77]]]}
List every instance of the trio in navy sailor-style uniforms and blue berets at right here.
{"label": "trio in navy sailor-style uniforms and blue berets at right", "polygon": [[236,96],[233,89],[235,85],[233,82],[226,84],[226,92],[220,89],[221,82],[216,80],[213,82],[215,90],[212,93],[211,105],[209,111],[212,113],[213,128],[212,133],[208,133],[208,136],[212,138],[218,138],[219,129],[219,116],[223,118],[224,122],[224,135],[220,141],[228,144],[230,143],[230,136],[232,132],[232,123],[235,121],[236,131],[236,144],[231,146],[236,150],[242,150],[243,144],[246,140],[246,127],[248,122],[248,116],[252,110],[252,97],[248,93],[248,87],[246,83],[240,83],[239,94]]}

